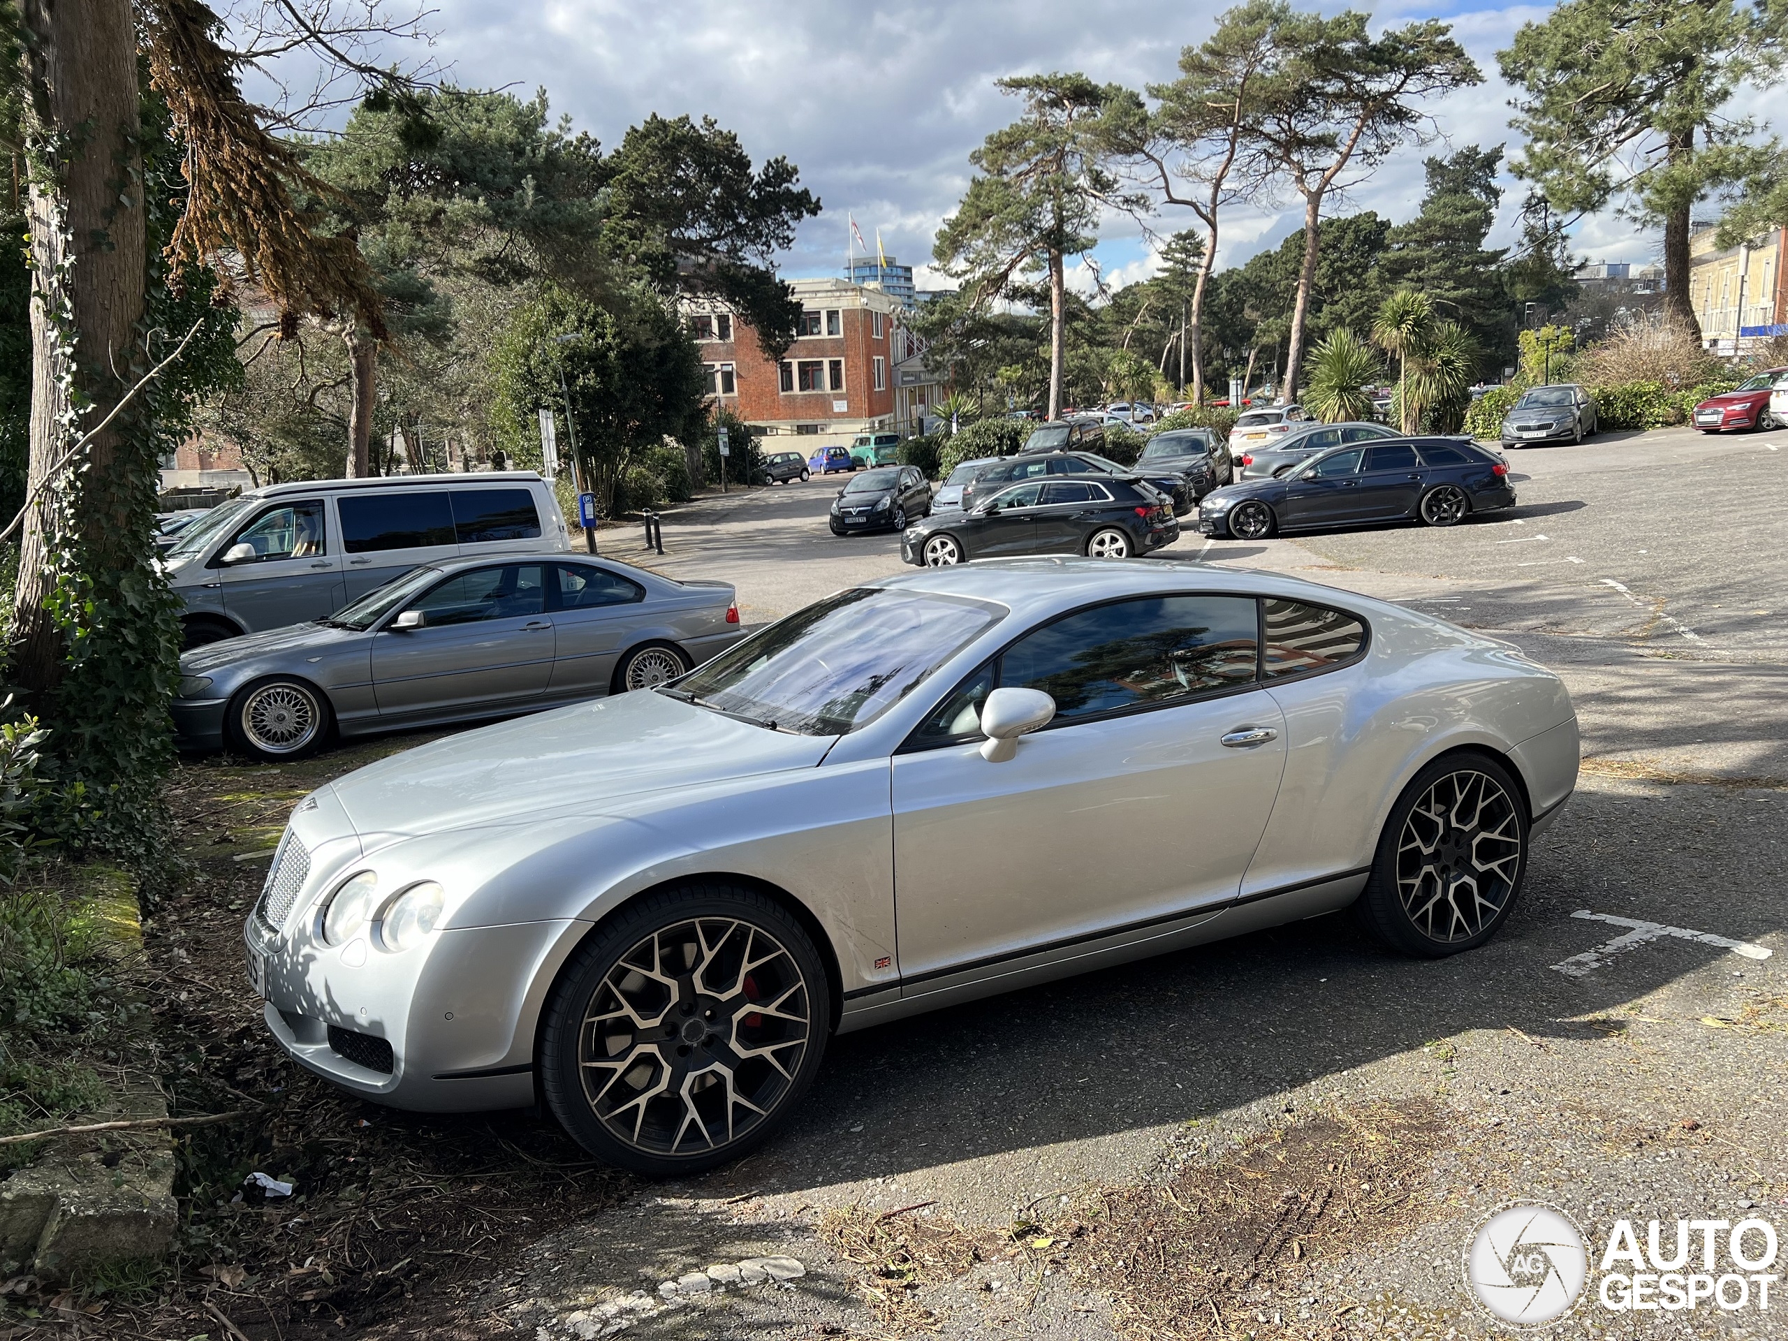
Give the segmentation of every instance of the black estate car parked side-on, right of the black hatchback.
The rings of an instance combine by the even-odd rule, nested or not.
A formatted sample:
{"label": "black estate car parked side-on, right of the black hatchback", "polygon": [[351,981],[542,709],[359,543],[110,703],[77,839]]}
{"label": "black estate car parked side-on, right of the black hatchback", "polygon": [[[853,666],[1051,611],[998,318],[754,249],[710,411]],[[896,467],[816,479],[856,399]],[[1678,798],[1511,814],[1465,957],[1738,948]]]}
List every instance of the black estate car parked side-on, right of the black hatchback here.
{"label": "black estate car parked side-on, right of the black hatchback", "polygon": [[1198,504],[1198,529],[1261,540],[1357,522],[1452,526],[1513,506],[1509,467],[1495,452],[1450,438],[1398,438],[1336,447],[1282,476],[1212,490]]}

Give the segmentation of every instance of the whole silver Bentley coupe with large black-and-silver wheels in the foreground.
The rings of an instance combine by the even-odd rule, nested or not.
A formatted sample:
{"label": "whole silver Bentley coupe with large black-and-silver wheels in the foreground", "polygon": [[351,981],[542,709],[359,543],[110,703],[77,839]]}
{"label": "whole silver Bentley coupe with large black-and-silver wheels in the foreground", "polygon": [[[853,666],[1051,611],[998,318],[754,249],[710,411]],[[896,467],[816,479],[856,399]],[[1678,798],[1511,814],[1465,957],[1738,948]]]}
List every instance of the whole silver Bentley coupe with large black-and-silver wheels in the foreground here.
{"label": "whole silver Bentley coupe with large black-and-silver wheels in the foreground", "polygon": [[1480,946],[1575,778],[1557,676],[1429,615],[1194,563],[924,569],[316,790],[249,971],[349,1091],[538,1094],[690,1173],[833,1033],[1346,907]]}

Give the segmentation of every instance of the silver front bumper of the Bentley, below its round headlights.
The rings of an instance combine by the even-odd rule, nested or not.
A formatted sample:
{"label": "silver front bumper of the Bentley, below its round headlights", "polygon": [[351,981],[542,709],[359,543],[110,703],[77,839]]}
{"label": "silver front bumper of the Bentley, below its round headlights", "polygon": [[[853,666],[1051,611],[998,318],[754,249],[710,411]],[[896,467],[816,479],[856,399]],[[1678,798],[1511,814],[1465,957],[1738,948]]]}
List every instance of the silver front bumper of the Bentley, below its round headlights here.
{"label": "silver front bumper of the Bentley, below its round headlights", "polygon": [[243,940],[266,1026],[299,1066],[393,1109],[479,1112],[533,1103],[540,1008],[581,928],[443,930],[388,955],[365,937],[299,944],[250,915]]}

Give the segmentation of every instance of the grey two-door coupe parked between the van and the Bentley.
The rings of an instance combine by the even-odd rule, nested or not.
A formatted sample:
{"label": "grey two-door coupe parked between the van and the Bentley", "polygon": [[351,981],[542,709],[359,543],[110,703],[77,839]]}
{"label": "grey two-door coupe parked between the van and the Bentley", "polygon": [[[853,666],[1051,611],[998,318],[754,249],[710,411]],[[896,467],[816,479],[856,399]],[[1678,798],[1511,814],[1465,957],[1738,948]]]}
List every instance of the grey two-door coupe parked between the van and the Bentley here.
{"label": "grey two-door coupe parked between the van and the Bentley", "polygon": [[361,735],[663,685],[742,637],[728,583],[583,554],[427,563],[309,624],[181,656],[177,744],[302,758]]}

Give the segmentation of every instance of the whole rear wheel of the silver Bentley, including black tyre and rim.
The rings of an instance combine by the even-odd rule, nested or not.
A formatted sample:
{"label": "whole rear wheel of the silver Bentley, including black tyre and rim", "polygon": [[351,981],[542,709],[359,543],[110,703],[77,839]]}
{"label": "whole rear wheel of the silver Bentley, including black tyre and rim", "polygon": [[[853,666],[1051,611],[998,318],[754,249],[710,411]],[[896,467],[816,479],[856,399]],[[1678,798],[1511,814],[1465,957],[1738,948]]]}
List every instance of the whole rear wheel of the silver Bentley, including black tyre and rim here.
{"label": "whole rear wheel of the silver Bentley, including black tyre and rim", "polygon": [[1404,789],[1379,837],[1354,915],[1375,940],[1418,958],[1477,949],[1527,878],[1527,806],[1489,755],[1438,758]]}

